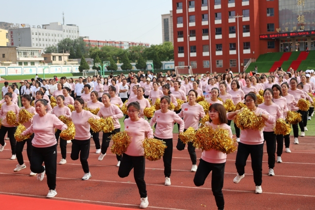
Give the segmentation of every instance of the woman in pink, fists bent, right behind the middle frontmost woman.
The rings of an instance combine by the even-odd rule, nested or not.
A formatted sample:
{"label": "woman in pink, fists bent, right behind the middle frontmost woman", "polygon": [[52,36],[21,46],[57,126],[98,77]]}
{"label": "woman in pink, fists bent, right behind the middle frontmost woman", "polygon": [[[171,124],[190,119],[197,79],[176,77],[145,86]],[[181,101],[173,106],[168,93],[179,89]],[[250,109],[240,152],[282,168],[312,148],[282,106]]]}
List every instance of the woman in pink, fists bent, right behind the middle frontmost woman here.
{"label": "woman in pink, fists bent, right behind the middle frontmost woman", "polygon": [[182,120],[175,112],[169,110],[170,104],[171,98],[169,96],[163,96],[160,102],[161,109],[154,113],[154,116],[150,121],[150,127],[157,123],[154,137],[164,141],[167,146],[163,155],[165,185],[171,185],[170,176],[173,155],[174,122],[179,124],[179,133],[184,131],[184,120]]}

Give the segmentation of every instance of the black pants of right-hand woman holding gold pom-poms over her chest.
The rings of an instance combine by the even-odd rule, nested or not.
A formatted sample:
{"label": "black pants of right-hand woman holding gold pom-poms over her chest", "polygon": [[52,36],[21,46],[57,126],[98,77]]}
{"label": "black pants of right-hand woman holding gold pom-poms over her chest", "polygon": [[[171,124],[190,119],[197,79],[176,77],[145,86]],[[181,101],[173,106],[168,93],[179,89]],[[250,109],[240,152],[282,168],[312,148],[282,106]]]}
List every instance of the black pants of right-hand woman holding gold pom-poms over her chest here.
{"label": "black pants of right-hand woman holding gold pom-poms over her chest", "polygon": [[256,186],[260,186],[262,180],[262,165],[263,165],[263,148],[264,144],[249,145],[238,142],[238,148],[236,153],[236,170],[238,175],[245,174],[245,165],[248,156],[251,154],[252,159],[252,171],[254,175],[254,182]]}

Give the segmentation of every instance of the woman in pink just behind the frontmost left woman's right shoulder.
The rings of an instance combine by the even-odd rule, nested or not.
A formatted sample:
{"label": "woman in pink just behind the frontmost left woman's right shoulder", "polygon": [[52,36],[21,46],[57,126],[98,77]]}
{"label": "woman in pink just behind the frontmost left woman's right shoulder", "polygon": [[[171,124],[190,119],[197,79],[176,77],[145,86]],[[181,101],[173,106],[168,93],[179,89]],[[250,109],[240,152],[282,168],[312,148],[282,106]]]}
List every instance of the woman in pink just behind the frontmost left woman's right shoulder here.
{"label": "woman in pink just behind the frontmost left woman's right shoulder", "polygon": [[[56,115],[57,118],[61,115],[64,115],[66,118],[69,118],[71,116],[71,111],[70,111],[68,106],[65,106],[63,104],[64,103],[64,96],[63,95],[57,96],[56,101],[57,101],[57,106],[55,106],[52,109],[51,114]],[[60,133],[61,133],[61,130],[57,129],[57,131],[55,133],[56,140],[57,140],[57,146],[58,146],[58,139],[59,139]],[[67,141],[64,140],[62,137],[60,137],[60,150],[61,150],[62,159],[60,160],[59,164],[63,165],[65,163],[67,163],[67,161],[65,160],[66,156],[67,156]]]}

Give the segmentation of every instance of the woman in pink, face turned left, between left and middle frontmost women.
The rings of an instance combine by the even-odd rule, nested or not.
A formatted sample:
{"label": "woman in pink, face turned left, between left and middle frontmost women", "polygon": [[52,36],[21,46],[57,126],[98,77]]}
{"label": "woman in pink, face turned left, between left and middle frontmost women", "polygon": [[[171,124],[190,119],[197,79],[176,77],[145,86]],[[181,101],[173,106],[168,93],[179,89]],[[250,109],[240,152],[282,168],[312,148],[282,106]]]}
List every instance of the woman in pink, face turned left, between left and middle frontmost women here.
{"label": "woman in pink, face turned left, between left and middle frontmost women", "polygon": [[71,159],[78,160],[80,155],[80,162],[84,171],[82,180],[88,180],[92,177],[89,169],[88,158],[90,153],[90,124],[88,120],[93,118],[95,120],[100,117],[92,114],[90,111],[83,109],[84,101],[81,98],[76,98],[74,101],[75,111],[71,113],[71,120],[76,128],[76,135],[72,139]]}

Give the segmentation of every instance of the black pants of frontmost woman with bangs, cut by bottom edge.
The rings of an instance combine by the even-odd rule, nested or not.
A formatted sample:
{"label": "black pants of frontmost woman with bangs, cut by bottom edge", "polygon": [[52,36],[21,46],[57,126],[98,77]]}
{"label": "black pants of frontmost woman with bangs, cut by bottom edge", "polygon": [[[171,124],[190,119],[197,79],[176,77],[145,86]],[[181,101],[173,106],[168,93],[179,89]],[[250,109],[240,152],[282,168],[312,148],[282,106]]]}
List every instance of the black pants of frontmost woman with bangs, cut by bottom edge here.
{"label": "black pants of frontmost woman with bangs, cut by bottom edge", "polygon": [[216,204],[218,210],[224,209],[224,197],[222,193],[223,188],[223,181],[224,181],[224,169],[225,163],[222,164],[213,164],[200,159],[200,163],[198,165],[195,178],[193,182],[197,187],[204,185],[205,179],[212,171],[212,178],[211,178],[211,189],[216,199]]}

